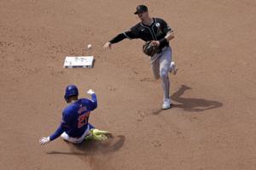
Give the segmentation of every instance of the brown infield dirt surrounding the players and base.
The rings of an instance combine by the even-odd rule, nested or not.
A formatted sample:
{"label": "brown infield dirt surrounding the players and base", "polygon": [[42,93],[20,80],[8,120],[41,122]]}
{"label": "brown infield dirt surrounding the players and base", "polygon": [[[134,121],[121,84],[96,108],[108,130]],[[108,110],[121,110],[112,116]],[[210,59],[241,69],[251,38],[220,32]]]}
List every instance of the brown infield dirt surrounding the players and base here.
{"label": "brown infield dirt surrounding the players and base", "polygon": [[[160,110],[142,41],[102,48],[139,21],[140,3],[175,31],[171,110]],[[249,0],[1,0],[1,169],[256,169],[255,10]],[[93,69],[62,68],[89,43]],[[38,144],[58,126],[70,83],[80,97],[96,91],[90,122],[113,139]]]}

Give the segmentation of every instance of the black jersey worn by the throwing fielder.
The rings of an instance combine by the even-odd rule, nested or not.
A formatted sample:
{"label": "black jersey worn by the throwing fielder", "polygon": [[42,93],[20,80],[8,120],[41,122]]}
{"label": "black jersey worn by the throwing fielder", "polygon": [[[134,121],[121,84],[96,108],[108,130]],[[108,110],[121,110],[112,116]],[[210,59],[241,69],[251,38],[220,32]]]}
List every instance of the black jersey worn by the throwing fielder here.
{"label": "black jersey worn by the throwing fielder", "polygon": [[[165,20],[159,18],[153,18],[153,23],[150,26],[144,25],[143,22],[139,22],[136,26],[132,26],[129,31],[120,33],[109,42],[120,42],[125,38],[136,39],[140,38],[143,41],[160,40],[166,37],[166,33],[172,31],[172,28],[167,25]],[[169,42],[165,42],[160,45],[160,48],[169,46]]]}

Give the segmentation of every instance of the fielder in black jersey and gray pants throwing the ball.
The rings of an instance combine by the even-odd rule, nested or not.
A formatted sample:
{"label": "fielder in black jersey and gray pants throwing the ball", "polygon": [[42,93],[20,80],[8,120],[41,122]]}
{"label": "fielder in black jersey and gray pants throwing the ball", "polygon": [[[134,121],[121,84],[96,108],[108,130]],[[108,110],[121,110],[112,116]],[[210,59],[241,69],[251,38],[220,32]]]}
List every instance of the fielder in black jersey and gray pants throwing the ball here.
{"label": "fielder in black jersey and gray pants throwing the ball", "polygon": [[131,27],[129,31],[113,37],[112,40],[105,43],[104,48],[111,48],[113,43],[120,42],[125,38],[140,38],[147,42],[143,46],[143,52],[150,55],[150,63],[155,79],[161,78],[164,90],[162,109],[169,109],[171,108],[171,99],[169,95],[170,81],[168,72],[170,71],[174,75],[177,72],[176,66],[172,62],[172,48],[169,45],[169,41],[174,38],[172,28],[167,25],[165,20],[151,18],[145,5],[137,6],[134,14],[138,15],[141,22]]}

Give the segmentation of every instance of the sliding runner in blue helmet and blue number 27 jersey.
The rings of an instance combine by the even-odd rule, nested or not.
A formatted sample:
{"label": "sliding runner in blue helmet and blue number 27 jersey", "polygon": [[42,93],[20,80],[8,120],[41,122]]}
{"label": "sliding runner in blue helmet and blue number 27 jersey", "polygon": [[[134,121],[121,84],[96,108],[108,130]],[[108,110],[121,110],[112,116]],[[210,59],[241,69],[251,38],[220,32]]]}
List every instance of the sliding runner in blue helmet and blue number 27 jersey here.
{"label": "sliding runner in blue helmet and blue number 27 jersey", "polygon": [[108,138],[107,131],[100,131],[89,123],[90,112],[97,107],[97,98],[91,89],[87,93],[90,94],[91,99],[79,99],[78,88],[74,85],[67,86],[64,99],[69,105],[62,113],[61,125],[49,137],[39,139],[40,144],[48,144],[59,136],[73,144],[79,144],[84,139],[105,140]]}

